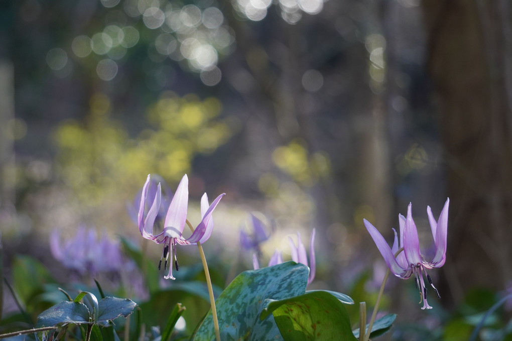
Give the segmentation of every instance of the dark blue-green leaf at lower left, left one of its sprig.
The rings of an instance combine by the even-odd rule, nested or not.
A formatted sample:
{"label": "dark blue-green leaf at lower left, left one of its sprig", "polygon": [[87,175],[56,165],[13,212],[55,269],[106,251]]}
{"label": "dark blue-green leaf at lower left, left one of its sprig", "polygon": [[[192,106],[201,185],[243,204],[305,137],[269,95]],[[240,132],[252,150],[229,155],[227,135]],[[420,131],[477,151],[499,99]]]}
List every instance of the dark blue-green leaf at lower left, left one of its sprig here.
{"label": "dark blue-green leaf at lower left, left one of its sprig", "polygon": [[37,316],[36,327],[52,327],[67,323],[89,323],[89,309],[78,302],[64,301]]}

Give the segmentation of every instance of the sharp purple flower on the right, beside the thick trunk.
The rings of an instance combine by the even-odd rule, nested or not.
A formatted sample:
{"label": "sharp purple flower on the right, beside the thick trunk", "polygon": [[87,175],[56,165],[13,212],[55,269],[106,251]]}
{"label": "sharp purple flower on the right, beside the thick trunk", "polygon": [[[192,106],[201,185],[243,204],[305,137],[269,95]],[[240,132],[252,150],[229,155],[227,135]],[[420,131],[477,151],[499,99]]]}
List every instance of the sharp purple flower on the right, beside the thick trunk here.
{"label": "sharp purple flower on the right, beside the thick trunk", "polygon": [[[377,245],[377,248],[382,254],[382,257],[386,261],[391,272],[393,272],[393,274],[398,278],[404,280],[414,274],[414,282],[416,287],[419,289],[421,301],[423,301],[423,307],[421,309],[432,309],[429,303],[426,302],[426,287],[423,280],[424,276],[439,296],[439,293],[432,284],[432,279],[429,274],[426,273],[426,270],[440,268],[444,265],[446,258],[446,232],[448,229],[449,204],[450,199],[447,199],[437,221],[432,215],[430,206],[427,206],[426,208],[436,248],[436,253],[430,262],[425,261],[419,250],[418,231],[411,214],[411,204],[409,204],[407,208],[407,218],[404,218],[402,215],[398,215],[400,223],[400,239],[398,239],[396,230],[393,229],[395,232],[395,241],[392,248],[389,247],[388,243],[386,243],[386,240],[377,231],[377,229],[364,219],[366,229],[370,232],[370,236],[372,236],[373,241]],[[395,253],[401,247],[403,247],[403,252],[400,252],[395,258]]]}

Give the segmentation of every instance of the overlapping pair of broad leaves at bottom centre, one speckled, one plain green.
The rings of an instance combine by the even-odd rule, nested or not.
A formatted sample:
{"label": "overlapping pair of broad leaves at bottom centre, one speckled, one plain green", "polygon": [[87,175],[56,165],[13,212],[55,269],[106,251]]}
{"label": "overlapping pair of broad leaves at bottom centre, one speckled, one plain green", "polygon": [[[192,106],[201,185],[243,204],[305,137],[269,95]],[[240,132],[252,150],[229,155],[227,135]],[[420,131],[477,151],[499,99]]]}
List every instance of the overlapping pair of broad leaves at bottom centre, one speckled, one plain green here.
{"label": "overlapping pair of broad leaves at bottom centre, one speckled, one plain green", "polygon": [[[354,340],[344,307],[352,299],[331,291],[306,292],[308,273],[294,262],[242,272],[216,301],[221,338]],[[214,337],[209,312],[194,339]]]}

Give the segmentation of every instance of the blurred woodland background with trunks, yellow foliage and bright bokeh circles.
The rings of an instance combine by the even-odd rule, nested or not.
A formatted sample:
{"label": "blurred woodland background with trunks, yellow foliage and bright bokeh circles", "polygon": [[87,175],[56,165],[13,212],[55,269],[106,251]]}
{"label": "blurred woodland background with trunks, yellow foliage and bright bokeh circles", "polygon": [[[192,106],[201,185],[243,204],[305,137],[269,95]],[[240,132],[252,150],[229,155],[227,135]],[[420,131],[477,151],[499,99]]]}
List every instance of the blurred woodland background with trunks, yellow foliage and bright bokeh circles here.
{"label": "blurred woodland background with trunks, yellow foliage and bright bokeh circles", "polygon": [[[426,206],[437,218],[450,197],[446,264],[430,273],[441,300],[421,311],[413,281],[391,278],[385,306],[402,327],[389,337],[464,335],[460,316],[512,285],[507,0],[0,6],[8,279],[18,254],[65,274],[49,236],[81,224],[147,244],[156,266],[161,249],[140,238],[127,206],[147,174],[174,190],[186,173],[193,223],[204,191],[227,194],[204,245],[226,283],[252,268],[239,233],[256,212],[272,230],[260,263],[275,248],[290,259],[288,236],[301,231],[308,247],[316,228],[311,287],[365,300],[386,268],[362,219],[391,243],[412,202],[428,250]],[[194,251],[182,261],[197,262]]]}

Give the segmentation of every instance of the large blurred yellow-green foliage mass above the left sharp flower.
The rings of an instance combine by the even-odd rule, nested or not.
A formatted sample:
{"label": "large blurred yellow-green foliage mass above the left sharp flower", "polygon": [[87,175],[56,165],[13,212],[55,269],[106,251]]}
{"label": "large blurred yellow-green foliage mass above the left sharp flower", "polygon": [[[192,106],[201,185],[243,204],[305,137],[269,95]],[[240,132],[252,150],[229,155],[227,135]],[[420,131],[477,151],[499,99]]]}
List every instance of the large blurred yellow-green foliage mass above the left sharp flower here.
{"label": "large blurred yellow-green foliage mass above the left sharp flower", "polygon": [[109,97],[95,94],[90,103],[86,120],[60,125],[55,141],[62,179],[81,204],[91,206],[105,202],[112,206],[119,197],[131,198],[142,186],[144,174],[179,180],[190,172],[197,154],[214,152],[233,130],[219,118],[221,104],[212,97],[200,100],[195,95],[163,93],[148,108],[153,129],[143,130],[135,139],[121,122],[110,118]]}

